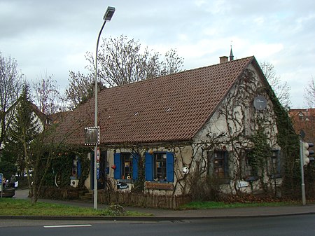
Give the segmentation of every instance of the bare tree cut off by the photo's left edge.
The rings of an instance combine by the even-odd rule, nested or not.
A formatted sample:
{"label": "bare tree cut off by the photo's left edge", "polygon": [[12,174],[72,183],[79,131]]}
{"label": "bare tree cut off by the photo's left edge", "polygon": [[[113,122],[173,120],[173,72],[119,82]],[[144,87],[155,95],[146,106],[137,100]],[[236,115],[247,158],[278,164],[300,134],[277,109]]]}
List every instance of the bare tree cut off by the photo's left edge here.
{"label": "bare tree cut off by the photo's left edge", "polygon": [[18,71],[17,62],[3,57],[0,52],[0,151],[6,132],[13,119],[15,103],[22,89],[23,74]]}

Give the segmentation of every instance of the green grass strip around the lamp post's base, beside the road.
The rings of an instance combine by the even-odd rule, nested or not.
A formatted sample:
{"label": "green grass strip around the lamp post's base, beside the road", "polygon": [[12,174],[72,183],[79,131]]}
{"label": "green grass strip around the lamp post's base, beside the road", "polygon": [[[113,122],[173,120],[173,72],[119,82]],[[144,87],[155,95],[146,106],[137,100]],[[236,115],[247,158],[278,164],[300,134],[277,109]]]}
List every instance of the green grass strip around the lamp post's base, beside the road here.
{"label": "green grass strip around the lamp post's base, beside the road", "polygon": [[53,204],[36,202],[14,198],[0,198],[1,216],[148,216],[137,211],[125,211],[124,214],[108,209],[92,209],[87,207],[75,207],[67,204]]}

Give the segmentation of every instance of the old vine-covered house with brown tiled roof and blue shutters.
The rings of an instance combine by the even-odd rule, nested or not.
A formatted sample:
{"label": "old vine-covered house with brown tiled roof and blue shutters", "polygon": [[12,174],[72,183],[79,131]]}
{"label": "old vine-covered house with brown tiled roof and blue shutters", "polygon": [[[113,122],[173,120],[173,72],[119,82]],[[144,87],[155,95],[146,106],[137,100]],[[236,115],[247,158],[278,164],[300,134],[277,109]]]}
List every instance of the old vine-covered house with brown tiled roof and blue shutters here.
{"label": "old vine-covered house with brown tiled roof and blue shutters", "polygon": [[[209,67],[100,91],[99,188],[106,179],[118,191],[182,195],[196,175],[213,176],[222,192],[272,188],[274,179],[280,183],[281,155],[270,94],[255,57],[221,57]],[[85,127],[93,124],[94,98],[59,124],[68,146],[87,151],[90,189],[94,154]]]}

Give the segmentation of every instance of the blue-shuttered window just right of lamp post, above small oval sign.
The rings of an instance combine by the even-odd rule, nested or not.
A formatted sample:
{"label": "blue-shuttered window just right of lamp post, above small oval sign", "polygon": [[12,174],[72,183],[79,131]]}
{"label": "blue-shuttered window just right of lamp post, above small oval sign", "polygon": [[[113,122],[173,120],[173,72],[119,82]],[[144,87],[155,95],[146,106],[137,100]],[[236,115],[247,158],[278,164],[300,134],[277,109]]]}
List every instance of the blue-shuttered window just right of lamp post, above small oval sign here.
{"label": "blue-shuttered window just right of lamp post, above small oval sign", "polygon": [[136,153],[115,153],[114,179],[137,179],[138,160],[139,156]]}

